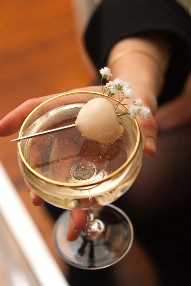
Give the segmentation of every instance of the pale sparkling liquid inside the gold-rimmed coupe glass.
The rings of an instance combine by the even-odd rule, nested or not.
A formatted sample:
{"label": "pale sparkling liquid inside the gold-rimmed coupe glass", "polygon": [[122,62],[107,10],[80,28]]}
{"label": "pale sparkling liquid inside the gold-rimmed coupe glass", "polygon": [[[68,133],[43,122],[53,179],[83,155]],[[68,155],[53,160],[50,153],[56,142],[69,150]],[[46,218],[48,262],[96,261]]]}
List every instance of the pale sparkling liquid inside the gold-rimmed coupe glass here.
{"label": "pale sparkling liquid inside the gold-rimmed coupe glass", "polygon": [[[84,104],[69,104],[46,112],[35,120],[25,135],[75,123],[76,116]],[[134,123],[127,115],[119,117],[119,121],[125,127],[124,132],[118,140],[111,144],[100,144],[84,136],[80,136],[74,143],[74,139],[80,132],[76,128],[71,128],[34,137],[25,142],[23,140],[23,154],[36,172],[51,180],[77,184],[83,182],[98,183],[120,168],[134,150],[136,144]],[[134,180],[135,178],[131,177],[130,179]],[[108,188],[110,194],[115,187],[114,182],[112,184],[104,187]],[[101,188],[79,187],[76,192],[78,192],[76,193],[77,197],[79,197],[79,192],[81,193],[82,199],[91,198],[91,195],[96,199],[96,196],[100,195]],[[118,197],[119,194],[116,192],[112,200]],[[111,202],[111,198],[108,198],[108,202]],[[104,204],[108,202],[106,200]],[[65,203],[59,203],[58,200],[55,204]],[[99,202],[99,204],[102,203]],[[63,207],[70,208],[69,203]]]}

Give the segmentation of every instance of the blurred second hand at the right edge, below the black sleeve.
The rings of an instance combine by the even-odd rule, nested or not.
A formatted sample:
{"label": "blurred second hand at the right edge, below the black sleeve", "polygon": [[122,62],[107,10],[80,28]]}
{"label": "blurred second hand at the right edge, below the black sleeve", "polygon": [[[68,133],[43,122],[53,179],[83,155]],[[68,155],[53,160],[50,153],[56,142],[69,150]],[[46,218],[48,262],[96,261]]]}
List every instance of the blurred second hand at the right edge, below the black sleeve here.
{"label": "blurred second hand at the right edge, below the black sleeve", "polygon": [[191,73],[179,97],[160,106],[155,119],[159,130],[166,132],[191,123]]}

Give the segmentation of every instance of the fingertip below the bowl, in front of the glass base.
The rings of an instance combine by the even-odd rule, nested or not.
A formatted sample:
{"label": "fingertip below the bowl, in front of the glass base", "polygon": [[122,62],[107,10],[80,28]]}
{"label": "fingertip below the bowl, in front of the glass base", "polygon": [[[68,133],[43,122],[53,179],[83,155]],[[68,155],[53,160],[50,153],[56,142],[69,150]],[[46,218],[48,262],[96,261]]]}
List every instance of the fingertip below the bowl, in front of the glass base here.
{"label": "fingertip below the bowl, in front of the glass base", "polygon": [[86,210],[70,210],[70,220],[68,225],[67,240],[76,240],[80,232],[85,229],[87,223]]}

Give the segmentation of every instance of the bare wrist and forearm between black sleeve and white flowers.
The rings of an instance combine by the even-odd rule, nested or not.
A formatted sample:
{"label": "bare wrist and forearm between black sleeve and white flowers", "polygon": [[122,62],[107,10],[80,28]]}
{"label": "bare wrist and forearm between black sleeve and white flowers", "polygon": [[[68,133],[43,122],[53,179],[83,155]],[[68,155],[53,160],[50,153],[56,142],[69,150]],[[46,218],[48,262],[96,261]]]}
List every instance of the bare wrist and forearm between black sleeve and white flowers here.
{"label": "bare wrist and forearm between black sleeve and white flowers", "polygon": [[109,66],[113,74],[112,78],[130,82],[135,94],[145,98],[154,113],[157,107],[156,99],[163,87],[164,75],[170,59],[168,42],[160,35],[152,34],[123,39],[111,49],[107,64],[110,65],[111,59],[124,50],[127,50],[127,54],[119,57],[112,66]]}

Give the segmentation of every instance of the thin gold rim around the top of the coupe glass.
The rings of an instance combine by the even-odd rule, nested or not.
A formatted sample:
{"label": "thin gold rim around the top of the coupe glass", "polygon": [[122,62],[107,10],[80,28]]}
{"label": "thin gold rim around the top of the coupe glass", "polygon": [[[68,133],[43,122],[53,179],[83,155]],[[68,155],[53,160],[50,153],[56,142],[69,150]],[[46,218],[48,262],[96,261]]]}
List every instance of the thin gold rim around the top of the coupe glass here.
{"label": "thin gold rim around the top of the coupe glass", "polygon": [[[69,96],[69,95],[73,95],[73,94],[95,94],[95,95],[99,95],[99,96],[102,96],[102,93],[100,92],[92,92],[92,91],[77,91],[77,92],[67,92],[67,93],[63,93],[63,94],[59,94],[57,96],[54,96],[48,100],[46,100],[45,102],[41,103],[39,106],[37,106],[28,116],[27,118],[25,119],[25,121],[23,122],[22,126],[21,126],[21,129],[20,129],[20,132],[19,132],[19,137],[21,137],[21,134],[23,132],[23,129],[25,127],[25,124],[26,122],[29,120],[29,118],[33,115],[33,113],[38,110],[39,108],[41,108],[41,106],[43,106],[44,104],[47,104],[48,102],[51,102],[52,100],[55,100],[57,98],[60,98],[60,97],[65,97],[65,96]],[[103,95],[104,97],[108,97],[116,102],[118,102],[118,100],[116,98],[113,98],[111,96],[108,96],[107,94],[104,94]],[[126,108],[127,110],[129,109],[124,103],[120,103],[122,106],[124,106],[124,108]],[[136,140],[136,144],[135,144],[135,148],[131,154],[131,156],[128,158],[128,160],[120,167],[118,168],[116,171],[112,172],[111,174],[109,174],[106,178],[100,180],[98,183],[100,182],[103,182],[103,181],[106,181],[108,179],[110,179],[111,177],[113,177],[114,175],[116,175],[117,173],[119,173],[124,167],[126,167],[128,164],[130,164],[130,162],[132,161],[132,159],[134,158],[137,150],[138,150],[138,146],[139,146],[139,143],[140,143],[140,129],[139,129],[139,126],[138,126],[138,122],[137,120],[134,118],[134,122],[135,122],[135,125],[136,125],[136,128],[137,128],[137,140]],[[59,182],[59,181],[55,181],[55,180],[52,180],[52,179],[49,179],[47,177],[44,177],[42,176],[41,174],[37,173],[29,164],[28,162],[25,160],[25,157],[23,155],[23,152],[21,150],[21,143],[20,141],[18,142],[18,151],[19,151],[19,156],[21,158],[21,160],[23,161],[23,163],[25,164],[25,166],[27,167],[27,169],[32,172],[33,174],[35,174],[35,176],[41,178],[42,180],[45,180],[51,184],[56,184],[56,185],[60,185],[60,186],[70,186],[70,187],[78,187],[78,186],[87,186],[87,185],[94,185],[95,182],[88,182],[88,183],[81,183],[81,184],[75,184],[75,183],[64,183],[64,182]]]}

